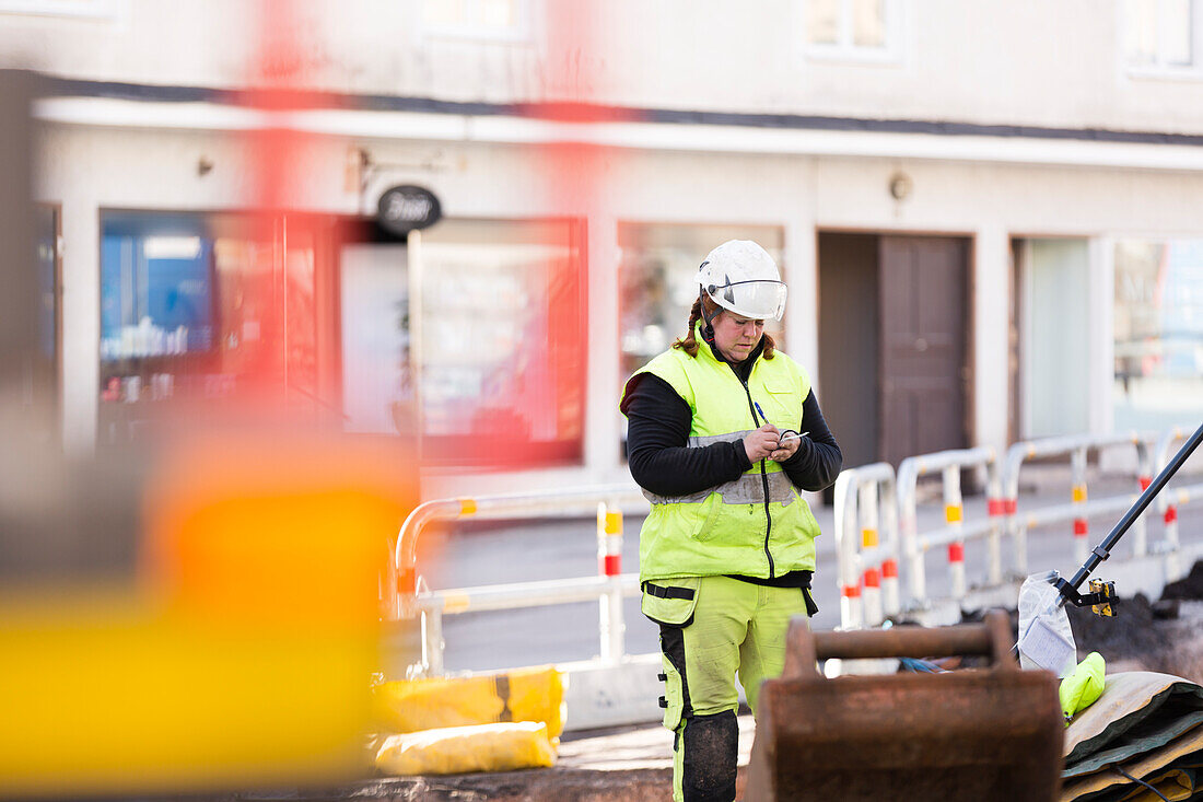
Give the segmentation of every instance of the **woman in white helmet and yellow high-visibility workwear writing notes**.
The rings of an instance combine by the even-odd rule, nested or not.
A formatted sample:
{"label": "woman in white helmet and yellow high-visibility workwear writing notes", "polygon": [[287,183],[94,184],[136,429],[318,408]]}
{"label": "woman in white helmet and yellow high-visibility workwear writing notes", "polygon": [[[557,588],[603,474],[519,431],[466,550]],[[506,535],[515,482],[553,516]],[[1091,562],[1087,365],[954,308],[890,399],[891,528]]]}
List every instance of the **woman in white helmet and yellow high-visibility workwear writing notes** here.
{"label": "woman in white helmet and yellow high-visibility workwear writing notes", "polygon": [[724,242],[698,271],[689,330],[627,382],[630,473],[652,502],[642,611],[660,627],[674,798],[735,798],[739,674],[755,710],[790,617],[812,615],[822,490],[843,456],[806,371],[764,334],[786,284],[764,248]]}

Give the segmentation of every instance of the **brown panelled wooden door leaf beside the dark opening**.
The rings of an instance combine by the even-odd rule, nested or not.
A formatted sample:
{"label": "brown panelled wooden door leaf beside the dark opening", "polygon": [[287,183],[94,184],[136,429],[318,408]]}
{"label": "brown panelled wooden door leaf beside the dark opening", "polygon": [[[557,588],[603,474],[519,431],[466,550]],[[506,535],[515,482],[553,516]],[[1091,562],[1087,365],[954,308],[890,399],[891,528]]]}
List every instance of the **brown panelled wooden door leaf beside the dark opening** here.
{"label": "brown panelled wooden door leaf beside the dark opening", "polygon": [[878,454],[965,448],[967,242],[882,237]]}

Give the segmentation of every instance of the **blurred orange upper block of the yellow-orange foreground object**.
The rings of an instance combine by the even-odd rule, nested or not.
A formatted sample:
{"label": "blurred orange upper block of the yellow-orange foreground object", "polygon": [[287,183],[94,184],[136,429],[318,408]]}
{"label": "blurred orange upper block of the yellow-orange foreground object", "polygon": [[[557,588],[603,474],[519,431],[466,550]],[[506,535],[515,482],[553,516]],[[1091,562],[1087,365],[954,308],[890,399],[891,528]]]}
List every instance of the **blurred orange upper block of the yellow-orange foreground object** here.
{"label": "blurred orange upper block of the yellow-orange foreground object", "polygon": [[348,440],[196,438],[148,489],[150,592],[231,625],[375,621],[383,544],[417,503],[411,455]]}

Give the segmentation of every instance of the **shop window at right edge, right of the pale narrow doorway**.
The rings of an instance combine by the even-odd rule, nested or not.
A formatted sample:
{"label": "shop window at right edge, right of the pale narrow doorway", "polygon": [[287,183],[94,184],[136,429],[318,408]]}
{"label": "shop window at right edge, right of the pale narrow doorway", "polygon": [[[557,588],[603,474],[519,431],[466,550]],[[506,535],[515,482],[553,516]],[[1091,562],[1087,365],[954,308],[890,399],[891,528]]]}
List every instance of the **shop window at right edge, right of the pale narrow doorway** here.
{"label": "shop window at right edge, right of the pale narrow doorway", "polygon": [[1203,409],[1203,240],[1115,243],[1116,429],[1196,425]]}

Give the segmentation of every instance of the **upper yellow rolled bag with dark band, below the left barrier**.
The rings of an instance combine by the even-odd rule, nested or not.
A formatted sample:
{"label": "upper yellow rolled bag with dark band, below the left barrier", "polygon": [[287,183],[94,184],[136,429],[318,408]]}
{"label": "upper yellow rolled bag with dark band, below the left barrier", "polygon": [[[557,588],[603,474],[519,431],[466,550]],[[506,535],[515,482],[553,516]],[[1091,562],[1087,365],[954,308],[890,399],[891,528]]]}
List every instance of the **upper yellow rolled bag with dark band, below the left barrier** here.
{"label": "upper yellow rolled bag with dark band, below the left barrier", "polygon": [[375,718],[387,732],[417,732],[504,721],[543,721],[564,731],[564,676],[546,666],[500,674],[380,683]]}

